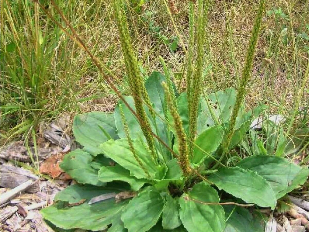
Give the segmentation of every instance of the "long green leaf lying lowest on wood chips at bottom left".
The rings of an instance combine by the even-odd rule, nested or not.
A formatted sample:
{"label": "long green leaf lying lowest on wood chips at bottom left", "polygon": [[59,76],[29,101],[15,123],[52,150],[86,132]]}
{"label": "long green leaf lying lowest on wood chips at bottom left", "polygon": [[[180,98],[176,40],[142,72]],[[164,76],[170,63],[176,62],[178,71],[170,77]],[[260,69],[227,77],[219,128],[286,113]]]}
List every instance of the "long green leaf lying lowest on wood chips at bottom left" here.
{"label": "long green leaf lying lowest on wood chips at bottom left", "polygon": [[84,230],[105,230],[119,217],[128,200],[115,202],[108,199],[95,204],[83,203],[74,207],[57,208],[49,206],[40,211],[43,217],[63,229],[81,228]]}

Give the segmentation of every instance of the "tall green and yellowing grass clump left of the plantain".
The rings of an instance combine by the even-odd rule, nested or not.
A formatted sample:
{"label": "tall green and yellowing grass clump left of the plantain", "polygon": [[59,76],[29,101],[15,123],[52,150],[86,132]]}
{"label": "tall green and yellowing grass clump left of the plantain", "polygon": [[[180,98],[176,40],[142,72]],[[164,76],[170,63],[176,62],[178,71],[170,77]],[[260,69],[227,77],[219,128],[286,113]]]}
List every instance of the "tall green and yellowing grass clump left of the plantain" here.
{"label": "tall green and yellowing grass clump left of the plantain", "polygon": [[[83,10],[84,2],[56,3],[71,21],[79,22],[81,17],[93,13],[92,6]],[[49,3],[42,4],[58,21],[60,17]],[[79,71],[87,70],[82,54],[40,8],[39,2],[2,1],[2,138],[27,137],[29,130],[37,131],[40,122],[78,109],[76,98],[83,91],[78,85],[83,75]]]}

